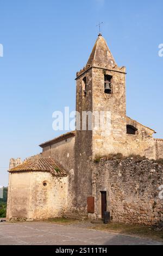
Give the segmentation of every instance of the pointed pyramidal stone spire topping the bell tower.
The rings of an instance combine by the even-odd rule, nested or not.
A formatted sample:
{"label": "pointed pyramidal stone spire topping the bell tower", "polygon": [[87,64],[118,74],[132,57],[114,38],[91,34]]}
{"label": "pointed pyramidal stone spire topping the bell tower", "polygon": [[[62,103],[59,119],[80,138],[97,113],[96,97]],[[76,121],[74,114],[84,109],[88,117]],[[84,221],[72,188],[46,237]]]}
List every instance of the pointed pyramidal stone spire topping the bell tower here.
{"label": "pointed pyramidal stone spire topping the bell tower", "polygon": [[116,65],[115,59],[101,34],[98,35],[87,64],[93,65],[95,62],[103,63],[103,65]]}

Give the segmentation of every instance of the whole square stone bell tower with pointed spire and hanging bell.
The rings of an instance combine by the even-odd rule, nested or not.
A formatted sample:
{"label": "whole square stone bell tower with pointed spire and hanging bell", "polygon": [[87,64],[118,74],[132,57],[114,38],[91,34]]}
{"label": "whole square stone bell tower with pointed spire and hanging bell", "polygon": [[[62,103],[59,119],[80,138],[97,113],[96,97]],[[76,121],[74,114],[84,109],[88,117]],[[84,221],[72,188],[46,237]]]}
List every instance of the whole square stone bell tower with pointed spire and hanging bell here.
{"label": "whole square stone bell tower with pointed spire and hanging bell", "polygon": [[99,34],[86,66],[77,72],[76,110],[81,122],[84,111],[103,112],[105,122],[106,117],[109,119],[104,126],[99,123],[99,127],[92,130],[88,127],[77,130],[75,158],[80,205],[83,197],[86,202],[86,197],[91,195],[90,159],[96,155],[124,154],[127,140],[125,77],[126,68],[117,66],[105,39]]}

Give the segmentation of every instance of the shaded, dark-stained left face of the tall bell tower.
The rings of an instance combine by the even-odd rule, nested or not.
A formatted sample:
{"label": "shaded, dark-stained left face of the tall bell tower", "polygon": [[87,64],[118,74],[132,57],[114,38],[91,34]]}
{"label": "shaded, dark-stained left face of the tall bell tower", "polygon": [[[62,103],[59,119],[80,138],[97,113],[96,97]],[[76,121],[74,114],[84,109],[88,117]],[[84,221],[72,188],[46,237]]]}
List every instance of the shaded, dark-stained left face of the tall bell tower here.
{"label": "shaded, dark-stained left face of the tall bell tower", "polygon": [[[86,94],[84,94],[83,78],[86,77]],[[82,126],[82,111],[92,111],[92,70],[87,71],[77,79],[76,110],[80,113]],[[75,159],[75,184],[76,194],[75,209],[86,213],[87,195],[91,195],[91,161],[92,156],[92,131],[77,130],[74,146]]]}

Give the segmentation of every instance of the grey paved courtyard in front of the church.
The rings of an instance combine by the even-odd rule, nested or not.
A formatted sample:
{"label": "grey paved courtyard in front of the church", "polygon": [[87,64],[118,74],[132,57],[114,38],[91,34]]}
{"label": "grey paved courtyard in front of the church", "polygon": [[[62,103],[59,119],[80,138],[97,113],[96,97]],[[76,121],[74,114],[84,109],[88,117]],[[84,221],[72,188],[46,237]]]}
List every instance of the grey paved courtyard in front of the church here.
{"label": "grey paved courtyard in front of the church", "polygon": [[0,222],[0,245],[162,245],[139,237],[48,222]]}

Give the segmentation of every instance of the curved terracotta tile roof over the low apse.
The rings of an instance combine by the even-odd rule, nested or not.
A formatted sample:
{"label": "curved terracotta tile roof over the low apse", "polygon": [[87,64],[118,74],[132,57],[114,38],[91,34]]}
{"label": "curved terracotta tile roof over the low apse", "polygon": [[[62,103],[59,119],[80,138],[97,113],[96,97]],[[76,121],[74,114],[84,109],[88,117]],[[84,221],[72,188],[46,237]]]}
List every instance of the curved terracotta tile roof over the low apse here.
{"label": "curved terracotta tile roof over the low apse", "polygon": [[64,168],[60,166],[54,159],[48,157],[32,157],[25,160],[18,166],[9,169],[9,172],[30,172],[30,171],[41,171],[50,172],[54,176],[67,176]]}

